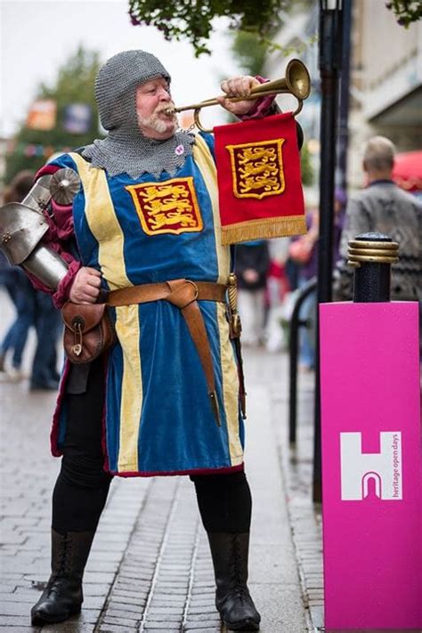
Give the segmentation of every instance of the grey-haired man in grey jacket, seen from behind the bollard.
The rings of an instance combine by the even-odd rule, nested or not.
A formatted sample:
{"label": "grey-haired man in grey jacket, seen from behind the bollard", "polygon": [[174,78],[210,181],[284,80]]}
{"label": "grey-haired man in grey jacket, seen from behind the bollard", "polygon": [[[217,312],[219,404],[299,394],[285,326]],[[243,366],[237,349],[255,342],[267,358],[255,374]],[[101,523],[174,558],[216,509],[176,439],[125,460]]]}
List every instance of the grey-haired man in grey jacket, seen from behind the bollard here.
{"label": "grey-haired man in grey jacket, seen from behind the bollard", "polygon": [[392,267],[391,298],[422,302],[422,205],[392,180],[395,148],[385,136],[369,139],[363,155],[368,186],[352,196],[345,213],[335,271],[333,298],[352,299],[353,269],[347,266],[347,245],[361,233],[377,231],[399,243],[399,262]]}

